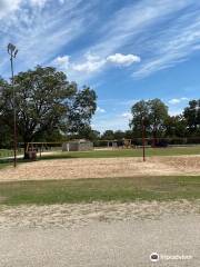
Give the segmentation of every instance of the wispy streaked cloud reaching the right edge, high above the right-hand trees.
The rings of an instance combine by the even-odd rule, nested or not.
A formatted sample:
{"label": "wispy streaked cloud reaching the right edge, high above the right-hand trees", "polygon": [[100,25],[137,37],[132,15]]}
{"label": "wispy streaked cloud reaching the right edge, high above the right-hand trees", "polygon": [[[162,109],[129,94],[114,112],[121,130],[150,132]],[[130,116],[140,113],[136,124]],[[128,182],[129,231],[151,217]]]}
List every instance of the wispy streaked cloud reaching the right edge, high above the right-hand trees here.
{"label": "wispy streaked cloud reaching the right edge, high above the right-hand trees", "polygon": [[[178,16],[167,29],[158,31],[158,38],[149,37],[151,56],[134,71],[133,77],[143,78],[159,70],[171,68],[189,59],[194,51],[200,50],[199,2],[182,1],[188,12]],[[193,10],[190,6],[193,4]],[[174,10],[176,11],[176,10]]]}

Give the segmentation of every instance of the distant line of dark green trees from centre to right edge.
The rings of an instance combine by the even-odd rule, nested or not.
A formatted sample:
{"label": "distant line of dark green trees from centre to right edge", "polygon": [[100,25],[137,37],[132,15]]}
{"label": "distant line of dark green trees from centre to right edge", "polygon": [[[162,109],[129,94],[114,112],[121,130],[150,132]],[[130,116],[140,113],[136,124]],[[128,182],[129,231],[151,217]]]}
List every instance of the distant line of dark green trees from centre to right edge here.
{"label": "distant line of dark green trees from centre to right edge", "polygon": [[[71,138],[88,138],[90,140],[122,140],[142,137],[142,122],[144,136],[149,142],[162,139],[169,144],[197,144],[200,142],[200,99],[189,101],[182,113],[169,115],[169,108],[160,99],[141,100],[131,107],[129,130],[106,130],[103,134],[91,130],[83,136]],[[186,139],[187,138],[187,139]],[[101,142],[102,144],[102,142]]]}

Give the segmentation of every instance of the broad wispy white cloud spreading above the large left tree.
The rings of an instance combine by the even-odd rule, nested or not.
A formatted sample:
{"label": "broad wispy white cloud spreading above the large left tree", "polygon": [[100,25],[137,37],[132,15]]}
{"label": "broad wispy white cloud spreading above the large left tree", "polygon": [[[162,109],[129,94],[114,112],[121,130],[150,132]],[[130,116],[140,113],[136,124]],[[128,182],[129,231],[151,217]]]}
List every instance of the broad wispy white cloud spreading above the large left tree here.
{"label": "broad wispy white cloud spreading above the large left tree", "polygon": [[[80,2],[81,0],[68,0],[61,6],[51,1],[46,9],[41,9],[28,0],[0,0],[1,13],[2,8],[4,12],[17,11],[2,19],[0,14],[0,47],[6,48],[8,42],[13,42],[19,49],[16,71],[37,65],[50,65],[61,49],[84,32],[90,21],[92,23],[90,17],[93,14],[90,16],[89,12],[90,3],[79,6]],[[9,61],[4,53],[0,50],[0,72],[7,76]]]}

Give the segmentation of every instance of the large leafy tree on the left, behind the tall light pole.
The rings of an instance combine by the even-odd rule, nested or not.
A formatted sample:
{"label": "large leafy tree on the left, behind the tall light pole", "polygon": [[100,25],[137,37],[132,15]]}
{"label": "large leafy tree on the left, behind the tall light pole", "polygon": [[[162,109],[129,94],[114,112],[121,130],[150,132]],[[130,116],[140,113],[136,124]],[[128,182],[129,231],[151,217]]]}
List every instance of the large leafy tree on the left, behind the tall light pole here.
{"label": "large leafy tree on the left, behind the tall light pole", "polygon": [[[96,110],[96,93],[78,90],[62,71],[37,67],[14,77],[17,130],[24,145],[53,131],[79,131],[88,126]],[[0,118],[13,128],[13,91],[0,82]],[[27,154],[24,154],[27,157]]]}

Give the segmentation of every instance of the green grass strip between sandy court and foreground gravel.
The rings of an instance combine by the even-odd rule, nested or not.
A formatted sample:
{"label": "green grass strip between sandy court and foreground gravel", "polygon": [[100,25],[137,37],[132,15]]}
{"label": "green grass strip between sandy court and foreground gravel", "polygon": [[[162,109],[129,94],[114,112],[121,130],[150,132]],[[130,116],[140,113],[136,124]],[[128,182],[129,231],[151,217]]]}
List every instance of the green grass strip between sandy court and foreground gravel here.
{"label": "green grass strip between sandy court and foreground gravel", "polygon": [[200,199],[200,176],[14,181],[0,184],[0,205]]}

